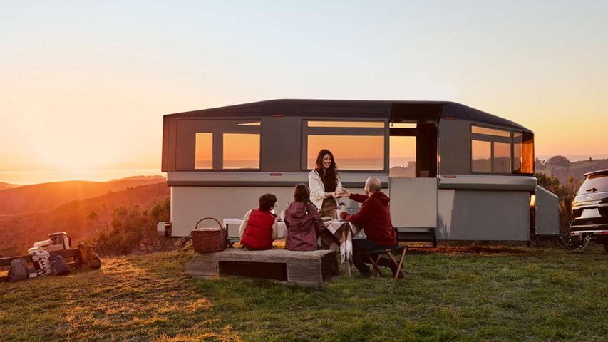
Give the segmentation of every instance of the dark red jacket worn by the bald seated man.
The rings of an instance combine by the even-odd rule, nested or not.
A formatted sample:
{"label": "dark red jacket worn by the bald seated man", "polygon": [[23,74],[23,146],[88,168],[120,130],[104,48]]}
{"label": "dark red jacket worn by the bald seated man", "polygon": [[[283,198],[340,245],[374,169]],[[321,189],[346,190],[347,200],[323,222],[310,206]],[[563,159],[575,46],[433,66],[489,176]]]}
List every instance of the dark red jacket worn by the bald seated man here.
{"label": "dark red jacket worn by the bald seated man", "polygon": [[391,199],[384,192],[374,192],[370,197],[366,195],[351,194],[349,199],[363,203],[359,212],[349,215],[342,212],[340,217],[353,224],[362,224],[367,238],[380,246],[394,246],[397,236],[391,223]]}

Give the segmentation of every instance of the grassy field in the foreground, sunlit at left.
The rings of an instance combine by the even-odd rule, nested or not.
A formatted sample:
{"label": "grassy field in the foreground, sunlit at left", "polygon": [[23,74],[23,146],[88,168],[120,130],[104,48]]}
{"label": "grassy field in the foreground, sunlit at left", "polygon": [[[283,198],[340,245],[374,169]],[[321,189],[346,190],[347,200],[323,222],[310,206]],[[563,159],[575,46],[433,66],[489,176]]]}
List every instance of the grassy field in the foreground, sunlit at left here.
{"label": "grassy field in the foreground, sunlit at left", "polygon": [[190,279],[191,252],[0,283],[0,341],[608,341],[608,254],[466,247],[412,252],[406,280],[322,291]]}

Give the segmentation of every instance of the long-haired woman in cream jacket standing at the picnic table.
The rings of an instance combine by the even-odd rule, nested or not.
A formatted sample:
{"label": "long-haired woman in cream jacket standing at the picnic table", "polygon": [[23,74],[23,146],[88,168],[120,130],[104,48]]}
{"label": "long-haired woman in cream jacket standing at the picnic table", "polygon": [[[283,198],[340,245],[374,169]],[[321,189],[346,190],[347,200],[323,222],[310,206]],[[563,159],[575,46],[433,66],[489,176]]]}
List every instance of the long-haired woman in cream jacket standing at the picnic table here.
{"label": "long-haired woman in cream jacket standing at the picnic table", "polygon": [[321,217],[337,219],[336,197],[342,194],[342,184],[334,155],[329,150],[320,150],[314,163],[314,170],[308,174],[310,202],[319,208]]}

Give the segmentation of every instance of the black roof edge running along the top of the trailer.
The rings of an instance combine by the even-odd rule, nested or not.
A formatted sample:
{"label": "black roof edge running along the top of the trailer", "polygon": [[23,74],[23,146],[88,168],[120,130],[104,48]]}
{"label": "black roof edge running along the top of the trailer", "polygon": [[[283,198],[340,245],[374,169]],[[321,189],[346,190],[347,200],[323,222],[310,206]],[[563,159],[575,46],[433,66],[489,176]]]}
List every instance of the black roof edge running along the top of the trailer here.
{"label": "black roof edge running along the top of the trailer", "polygon": [[485,113],[481,110],[450,101],[402,101],[402,100],[311,100],[311,99],[277,99],[264,100],[239,105],[192,110],[168,114],[170,117],[192,116],[225,116],[225,115],[365,115],[368,117],[390,118],[393,104],[443,105],[440,118],[472,120],[478,123],[502,125],[532,133],[518,123]]}

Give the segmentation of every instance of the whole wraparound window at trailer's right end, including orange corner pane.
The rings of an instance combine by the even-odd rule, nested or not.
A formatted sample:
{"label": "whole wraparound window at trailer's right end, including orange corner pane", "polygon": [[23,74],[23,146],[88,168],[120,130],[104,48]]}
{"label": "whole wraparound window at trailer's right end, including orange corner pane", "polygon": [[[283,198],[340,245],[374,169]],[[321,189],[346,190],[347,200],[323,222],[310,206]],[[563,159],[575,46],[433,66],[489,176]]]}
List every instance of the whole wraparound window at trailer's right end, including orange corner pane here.
{"label": "whole wraparound window at trailer's right end, including orange corner pane", "polygon": [[472,125],[471,171],[533,174],[534,136]]}

